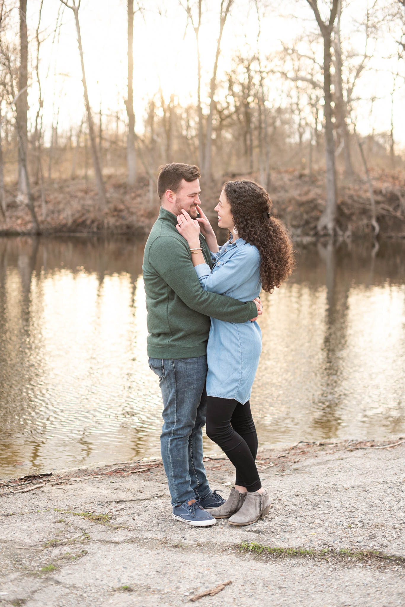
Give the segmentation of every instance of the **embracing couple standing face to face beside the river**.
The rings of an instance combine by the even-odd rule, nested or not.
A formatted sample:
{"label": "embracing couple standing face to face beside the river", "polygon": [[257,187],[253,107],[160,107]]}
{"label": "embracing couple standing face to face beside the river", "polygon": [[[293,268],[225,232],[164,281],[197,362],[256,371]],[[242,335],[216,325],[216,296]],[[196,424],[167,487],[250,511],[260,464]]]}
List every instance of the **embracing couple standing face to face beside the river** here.
{"label": "embracing couple standing face to face beside the river", "polygon": [[[259,293],[293,267],[290,239],[270,215],[267,192],[227,181],[215,207],[229,239],[218,246],[201,208],[197,166],[166,164],[157,180],[162,206],[145,246],[149,367],[163,398],[160,436],[172,517],[194,526],[228,518],[254,523],[270,510],[257,472],[250,394],[262,336]],[[209,487],[202,427],[236,470],[225,501]]]}

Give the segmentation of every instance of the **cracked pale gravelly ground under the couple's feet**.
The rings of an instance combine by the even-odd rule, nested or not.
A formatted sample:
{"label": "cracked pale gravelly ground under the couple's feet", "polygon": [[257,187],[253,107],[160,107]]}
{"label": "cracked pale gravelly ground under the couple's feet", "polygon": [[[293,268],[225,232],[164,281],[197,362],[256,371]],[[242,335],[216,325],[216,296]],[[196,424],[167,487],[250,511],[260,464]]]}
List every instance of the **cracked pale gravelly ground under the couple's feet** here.
{"label": "cracked pale gravelly ground under the couple's feet", "polygon": [[[158,459],[0,484],[0,604],[402,606],[405,440],[262,449],[270,514],[248,527],[170,517]],[[213,489],[233,473],[206,458]],[[230,582],[225,585],[225,583]]]}

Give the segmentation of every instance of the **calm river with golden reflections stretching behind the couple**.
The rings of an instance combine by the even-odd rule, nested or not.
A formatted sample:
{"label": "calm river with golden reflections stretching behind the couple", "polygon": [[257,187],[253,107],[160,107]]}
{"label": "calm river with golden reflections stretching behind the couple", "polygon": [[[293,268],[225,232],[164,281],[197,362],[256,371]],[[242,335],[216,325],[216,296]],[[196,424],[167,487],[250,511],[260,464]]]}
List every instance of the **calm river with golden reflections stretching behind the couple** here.
{"label": "calm river with golden reflections stretching behind the couple", "polygon": [[[0,238],[0,476],[159,455],[143,245]],[[405,242],[298,248],[262,300],[260,445],[405,435]]]}

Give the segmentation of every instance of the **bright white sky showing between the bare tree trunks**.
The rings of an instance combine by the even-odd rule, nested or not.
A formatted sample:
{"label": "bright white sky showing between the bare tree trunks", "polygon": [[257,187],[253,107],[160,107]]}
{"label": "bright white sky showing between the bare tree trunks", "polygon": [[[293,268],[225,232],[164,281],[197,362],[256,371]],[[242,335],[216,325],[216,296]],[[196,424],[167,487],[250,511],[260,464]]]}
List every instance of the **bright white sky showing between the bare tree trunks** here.
{"label": "bright white sky showing between the bare tree trunks", "polygon": [[[38,24],[39,0],[27,3],[29,28],[30,64],[35,60],[35,29]],[[186,4],[186,0],[183,0]],[[261,33],[257,42],[258,20],[254,1],[236,0],[223,32],[217,80],[221,81],[230,69],[236,53],[252,55],[259,49],[263,66],[277,64],[277,52],[282,43],[298,47],[302,53],[307,48],[306,37],[318,34],[313,13],[305,0],[288,0],[283,3],[260,2]],[[369,7],[373,4],[368,2]],[[384,2],[377,2],[384,11]],[[389,2],[385,4],[388,6]],[[171,93],[180,104],[196,103],[197,100],[197,53],[196,39],[190,24],[186,27],[186,12],[179,0],[151,0],[147,8],[137,12],[134,18],[134,108],[135,131],[143,131],[143,118],[148,99],[162,89],[166,100]],[[191,5],[193,3],[191,2]],[[200,50],[202,58],[202,99],[208,101],[209,80],[216,52],[219,33],[219,0],[203,3]],[[266,8],[267,5],[267,8]],[[327,14],[329,2],[319,0],[322,14]],[[135,10],[137,2],[134,2]],[[58,11],[62,22],[55,33]],[[364,55],[367,0],[344,0],[341,20],[342,50],[353,56],[352,66]],[[282,12],[282,14],[281,14]],[[90,104],[95,112],[116,114],[126,120],[124,100],[127,86],[127,13],[124,0],[82,0],[80,7],[81,35],[84,49],[87,86]],[[15,34],[18,36],[18,11],[13,16]],[[399,27],[399,25],[397,26]],[[52,116],[59,108],[59,124],[62,129],[80,123],[84,114],[83,86],[73,12],[60,0],[44,0],[40,25],[41,50],[40,78],[44,98],[44,126],[50,125]],[[389,31],[391,30],[391,31]],[[391,93],[393,74],[400,70],[395,81],[393,96],[394,137],[400,146],[405,145],[405,65],[398,62],[396,41],[401,32],[392,31],[389,22],[379,26],[378,35],[370,38],[367,52],[371,56],[367,68],[355,87],[355,114],[358,131],[387,132],[391,122]],[[299,39],[302,38],[302,41]],[[322,44],[317,49],[322,63]],[[33,120],[38,103],[35,73],[29,84],[30,118]],[[285,103],[286,92],[282,76],[268,76],[271,95],[268,104]],[[321,78],[321,76],[320,76]],[[226,95],[226,87],[217,89],[217,96]],[[372,103],[372,98],[375,100]],[[207,103],[208,107],[208,103]],[[122,125],[123,127],[123,125]]]}

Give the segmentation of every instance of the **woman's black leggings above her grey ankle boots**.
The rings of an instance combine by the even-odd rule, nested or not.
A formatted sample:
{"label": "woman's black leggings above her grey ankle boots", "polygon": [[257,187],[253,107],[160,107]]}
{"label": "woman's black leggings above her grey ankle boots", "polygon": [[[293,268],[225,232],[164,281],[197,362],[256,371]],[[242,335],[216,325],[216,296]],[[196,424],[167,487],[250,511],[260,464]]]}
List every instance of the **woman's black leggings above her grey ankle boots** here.
{"label": "woman's black leggings above her grey ankle boots", "polygon": [[254,460],[257,434],[250,412],[250,402],[242,405],[234,398],[206,396],[206,435],[230,458],[236,468],[235,484],[253,492],[260,489]]}

